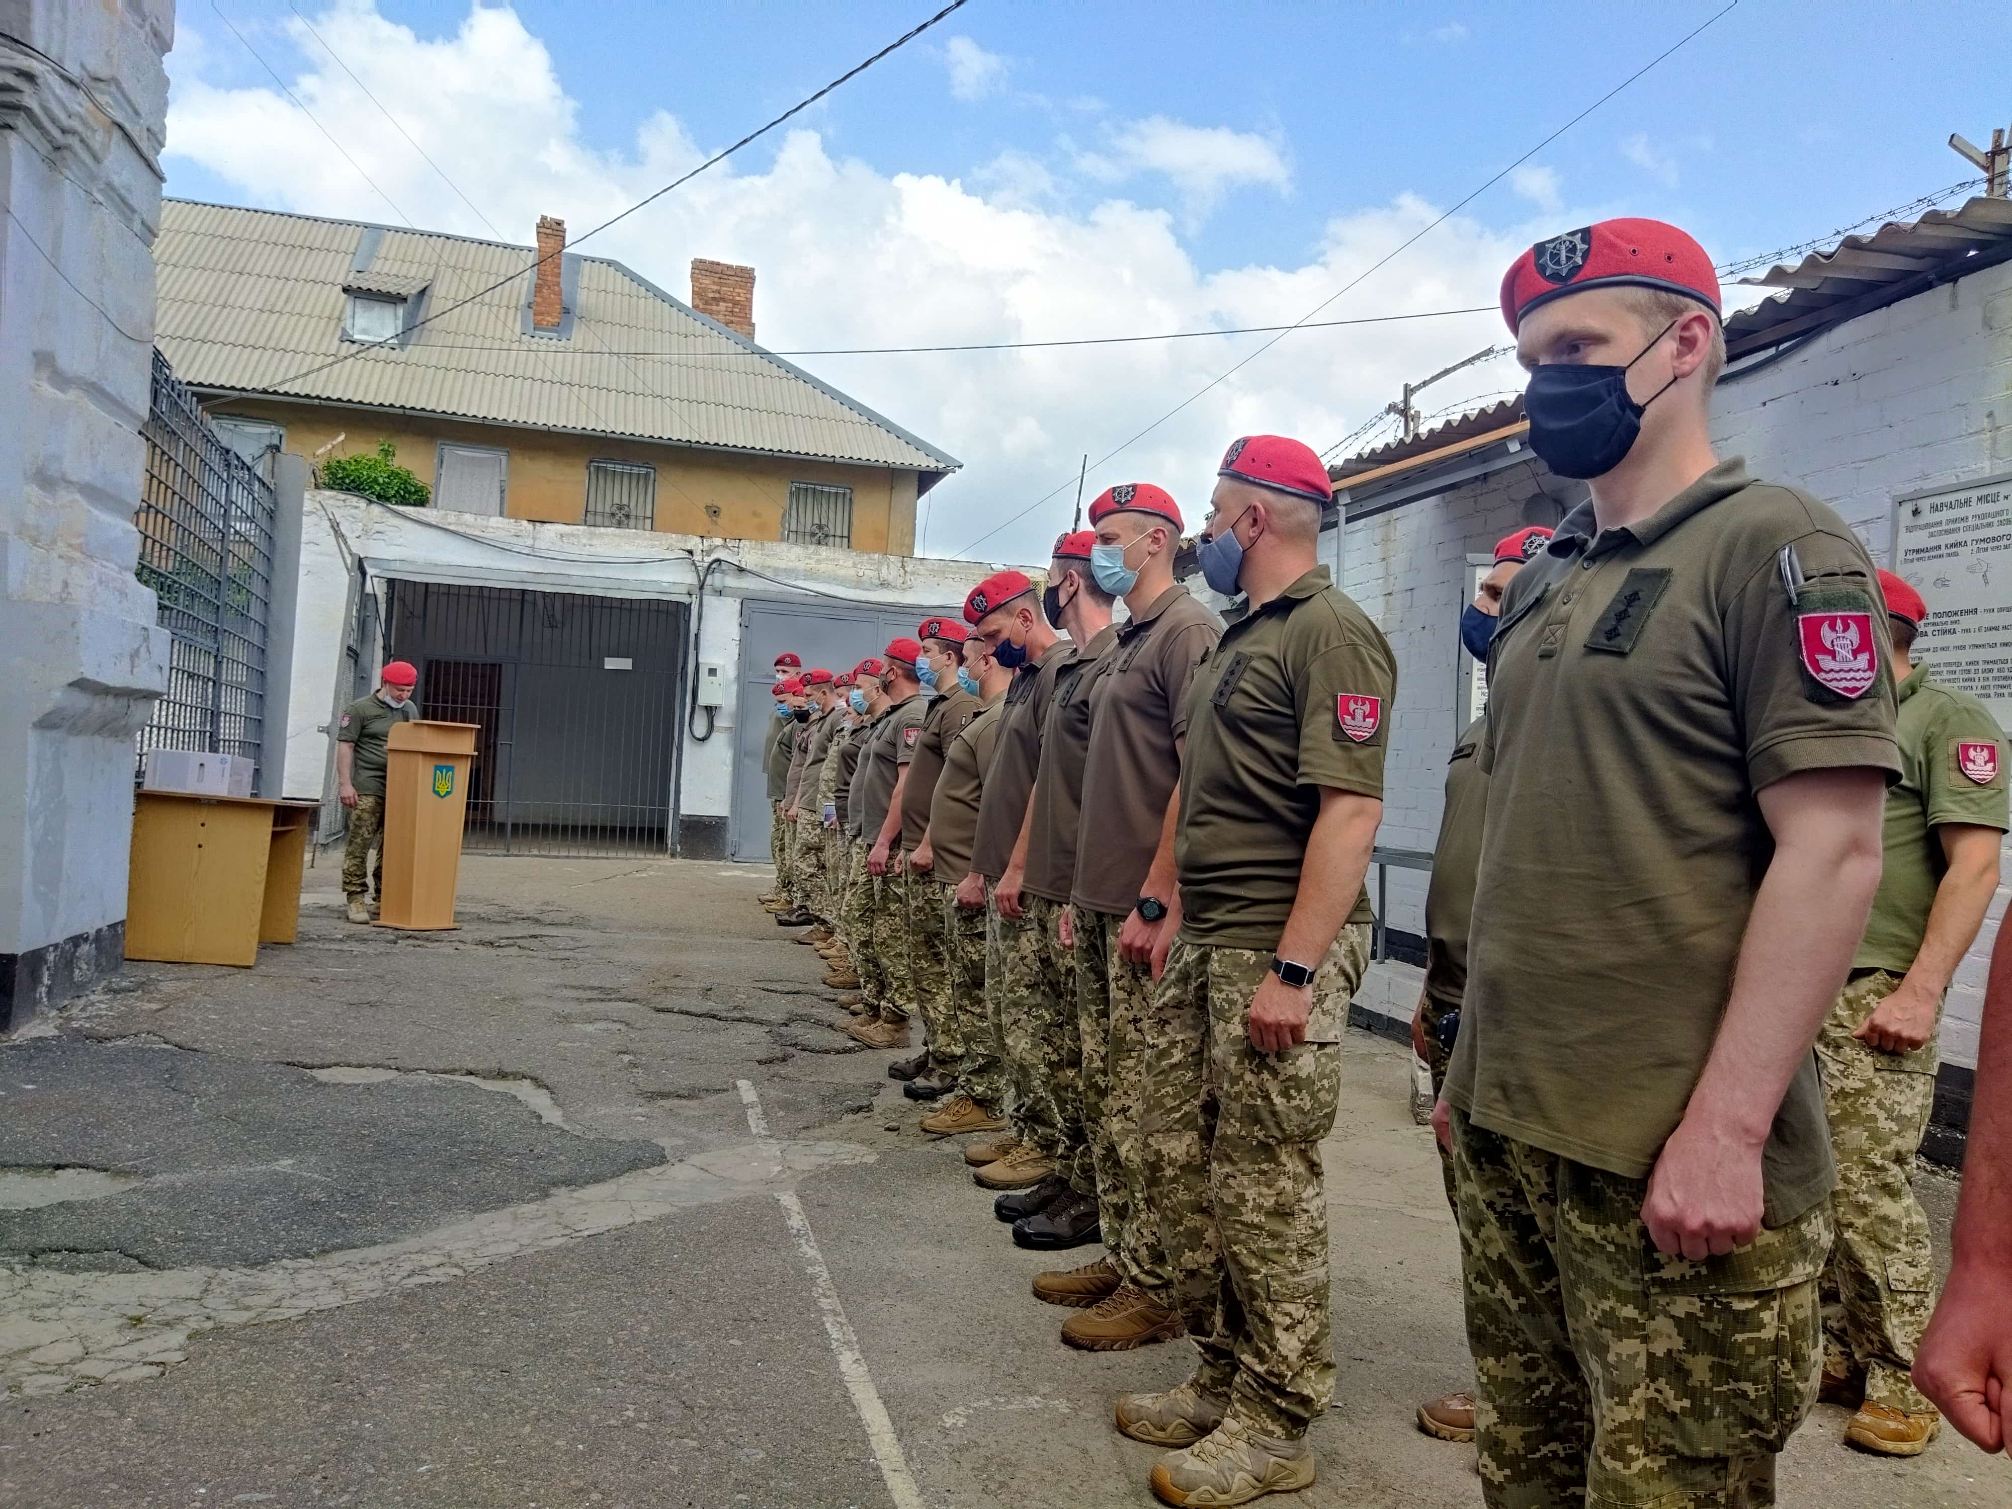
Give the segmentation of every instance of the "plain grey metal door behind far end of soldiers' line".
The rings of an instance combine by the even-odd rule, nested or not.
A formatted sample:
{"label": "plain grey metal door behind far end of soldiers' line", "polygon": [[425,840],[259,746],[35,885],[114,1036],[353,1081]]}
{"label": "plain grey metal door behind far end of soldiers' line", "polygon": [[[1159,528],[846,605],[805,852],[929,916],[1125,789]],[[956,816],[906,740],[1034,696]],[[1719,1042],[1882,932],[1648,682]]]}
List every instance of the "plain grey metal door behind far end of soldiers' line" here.
{"label": "plain grey metal door behind far end of soldiers' line", "polygon": [[734,815],[728,835],[734,859],[769,861],[769,783],[763,777],[763,736],[775,712],[771,666],[785,650],[803,656],[805,670],[851,670],[877,656],[889,640],[913,636],[930,614],[962,620],[956,608],[853,608],[839,602],[740,602],[740,698],[734,708]]}

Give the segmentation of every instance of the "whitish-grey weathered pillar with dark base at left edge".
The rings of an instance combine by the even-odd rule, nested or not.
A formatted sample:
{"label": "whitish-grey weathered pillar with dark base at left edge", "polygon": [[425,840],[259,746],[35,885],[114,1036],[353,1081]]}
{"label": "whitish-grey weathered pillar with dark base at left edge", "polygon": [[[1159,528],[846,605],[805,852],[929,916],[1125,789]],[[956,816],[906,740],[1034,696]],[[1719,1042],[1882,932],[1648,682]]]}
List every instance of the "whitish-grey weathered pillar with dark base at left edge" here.
{"label": "whitish-grey weathered pillar with dark base at left edge", "polygon": [[133,734],[169,640],[133,575],[173,0],[0,6],[0,1028],[125,944]]}

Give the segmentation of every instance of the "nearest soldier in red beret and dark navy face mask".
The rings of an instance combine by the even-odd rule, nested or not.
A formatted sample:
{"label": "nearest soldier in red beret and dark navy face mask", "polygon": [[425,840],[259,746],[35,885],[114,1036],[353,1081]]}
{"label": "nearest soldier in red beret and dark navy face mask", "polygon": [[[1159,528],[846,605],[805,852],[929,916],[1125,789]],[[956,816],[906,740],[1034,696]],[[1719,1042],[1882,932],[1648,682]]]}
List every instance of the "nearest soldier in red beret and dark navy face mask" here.
{"label": "nearest soldier in red beret and dark navy face mask", "polygon": [[1831,1241],[1811,1046],[1901,771],[1887,622],[1837,513],[1712,453],[1724,334],[1690,235],[1553,235],[1501,298],[1531,449],[1591,499],[1489,644],[1435,1111],[1483,1497],[1771,1503],[1815,1402]]}

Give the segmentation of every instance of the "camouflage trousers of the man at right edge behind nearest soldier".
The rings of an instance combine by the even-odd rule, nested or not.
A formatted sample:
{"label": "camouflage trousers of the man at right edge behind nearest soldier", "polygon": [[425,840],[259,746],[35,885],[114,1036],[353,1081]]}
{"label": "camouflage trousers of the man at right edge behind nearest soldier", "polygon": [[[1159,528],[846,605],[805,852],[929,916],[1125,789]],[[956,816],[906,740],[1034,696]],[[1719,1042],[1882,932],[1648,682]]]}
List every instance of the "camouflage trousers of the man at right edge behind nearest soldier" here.
{"label": "camouflage trousers of the man at right edge behind nearest soldier", "polygon": [[1913,1155],[1936,1105],[1940,1044],[1879,1052],[1851,1034],[1899,988],[1901,976],[1853,976],[1817,1034],[1823,1107],[1837,1155],[1837,1243],[1825,1268],[1839,1306],[1825,1312],[1833,1372],[1865,1370],[1865,1400],[1909,1414],[1936,1406],[1907,1376],[1936,1308],[1936,1255],[1913,1195]]}

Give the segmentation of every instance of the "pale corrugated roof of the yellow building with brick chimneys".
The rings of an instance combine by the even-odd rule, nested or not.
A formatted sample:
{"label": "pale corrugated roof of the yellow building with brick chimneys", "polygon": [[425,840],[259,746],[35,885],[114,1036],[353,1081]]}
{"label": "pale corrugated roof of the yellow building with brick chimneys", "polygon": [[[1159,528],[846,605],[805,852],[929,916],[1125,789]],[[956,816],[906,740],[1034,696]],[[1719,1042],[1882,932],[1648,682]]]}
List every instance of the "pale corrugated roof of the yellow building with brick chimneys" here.
{"label": "pale corrugated roof of the yellow building with brick chimneys", "polygon": [[[358,272],[366,235],[378,245]],[[153,256],[157,342],[197,388],[921,473],[960,465],[620,262],[569,256],[573,324],[555,340],[525,334],[537,254],[523,245],[167,199]],[[421,316],[439,318],[404,348],[358,352],[342,338],[346,286],[427,288]]]}

